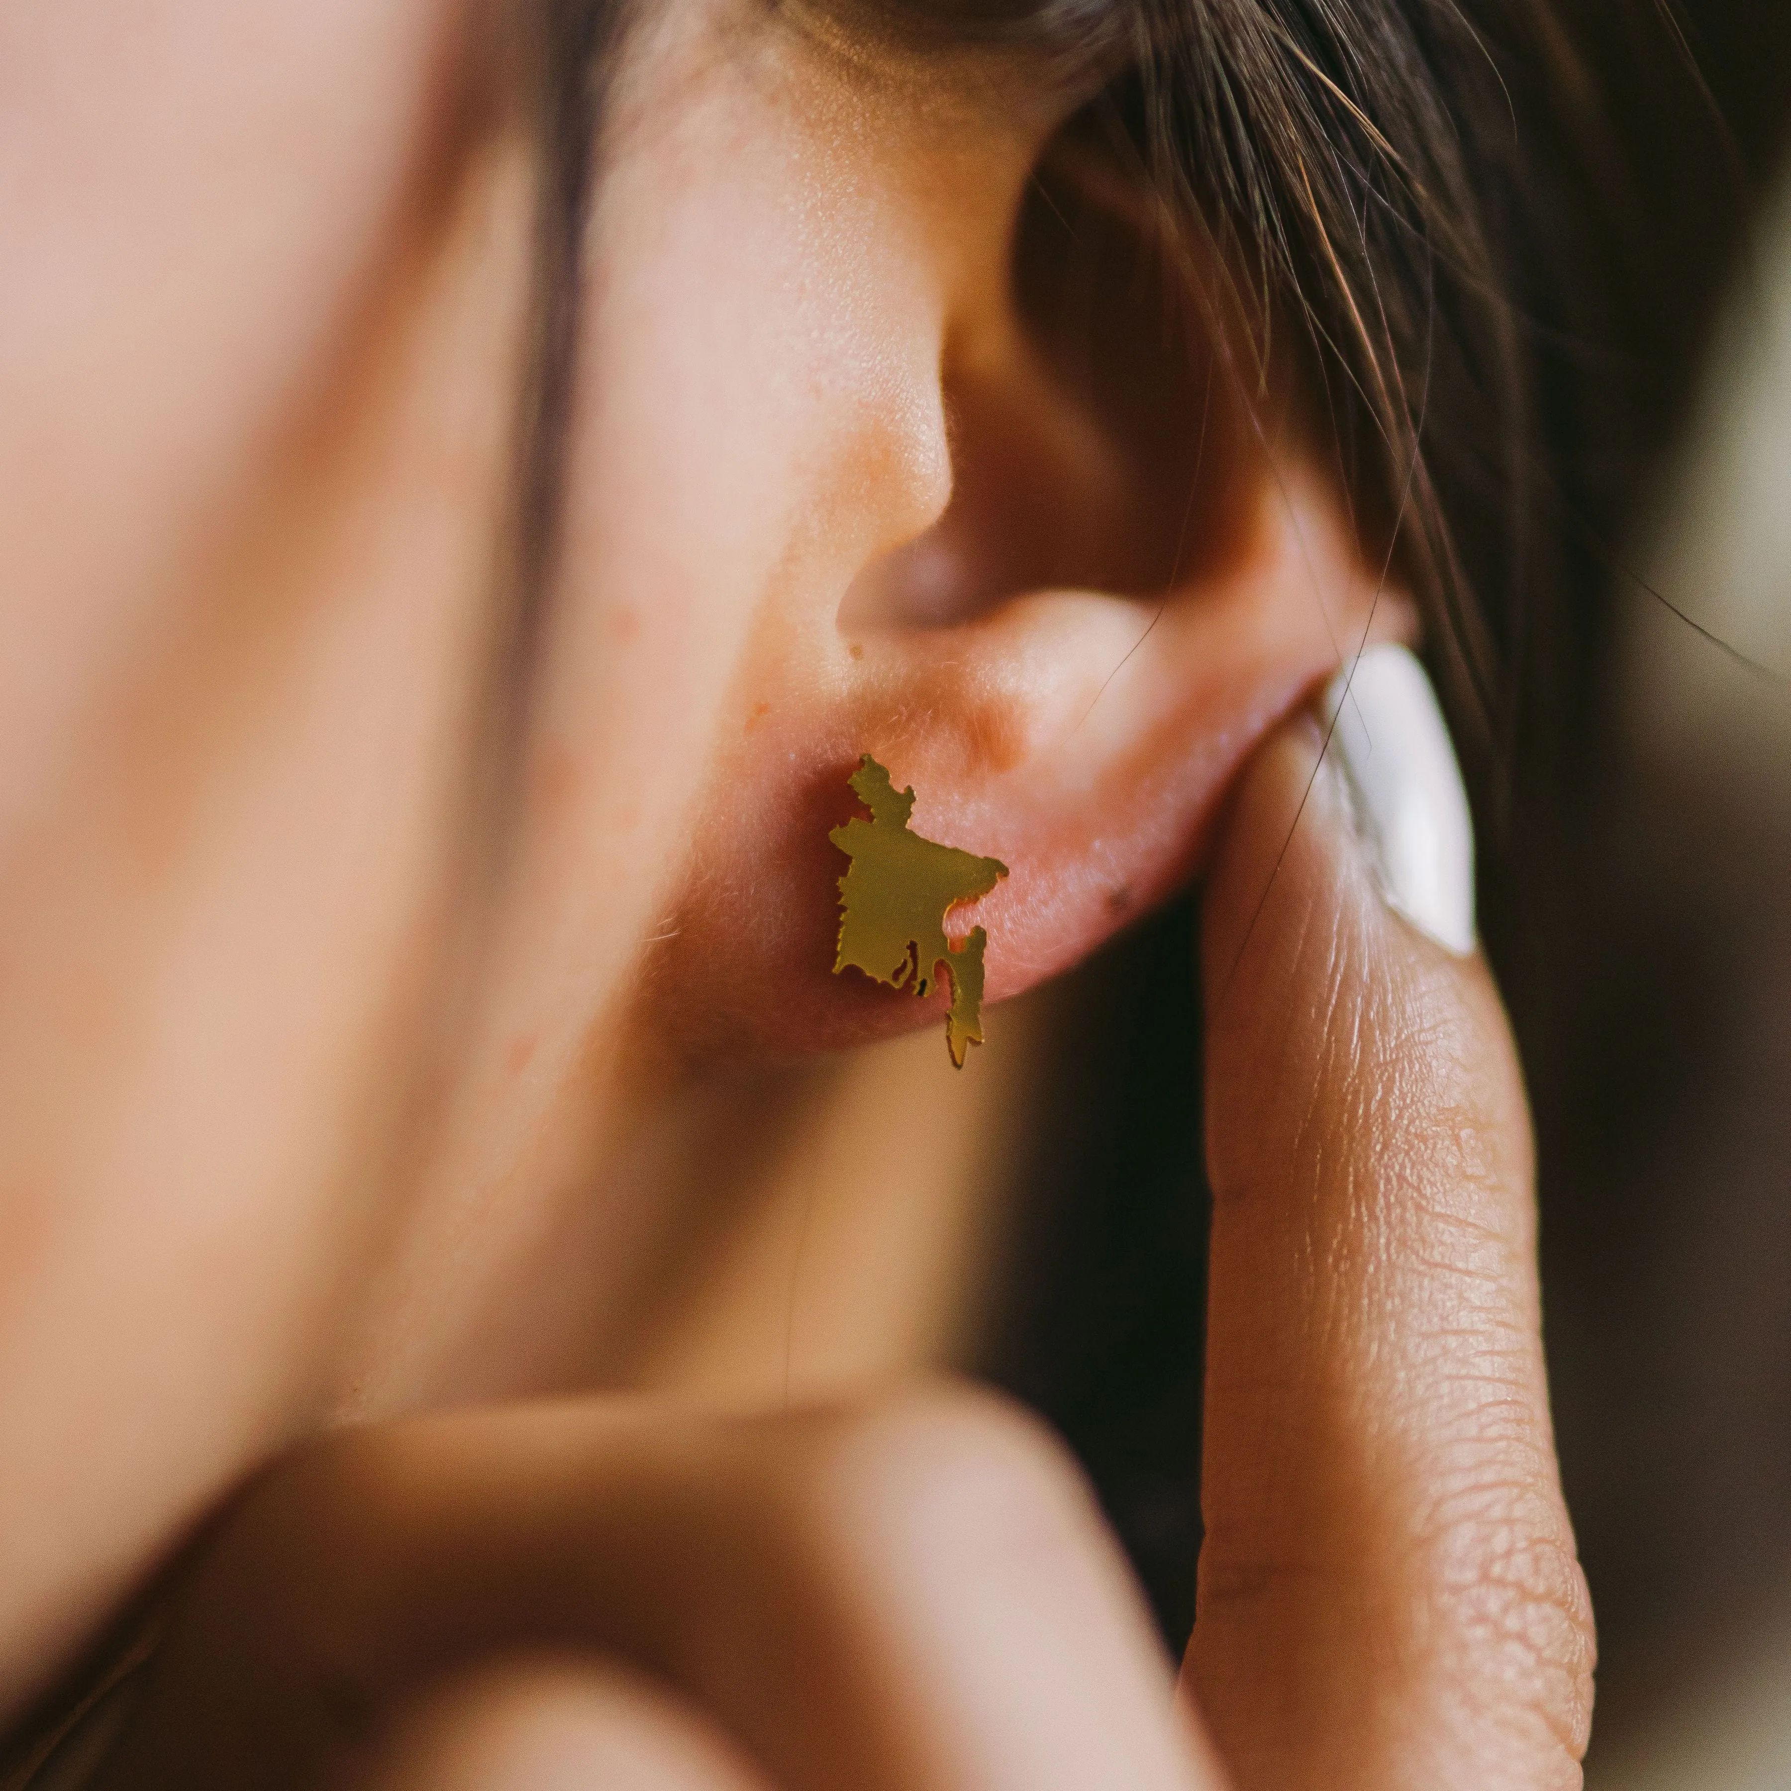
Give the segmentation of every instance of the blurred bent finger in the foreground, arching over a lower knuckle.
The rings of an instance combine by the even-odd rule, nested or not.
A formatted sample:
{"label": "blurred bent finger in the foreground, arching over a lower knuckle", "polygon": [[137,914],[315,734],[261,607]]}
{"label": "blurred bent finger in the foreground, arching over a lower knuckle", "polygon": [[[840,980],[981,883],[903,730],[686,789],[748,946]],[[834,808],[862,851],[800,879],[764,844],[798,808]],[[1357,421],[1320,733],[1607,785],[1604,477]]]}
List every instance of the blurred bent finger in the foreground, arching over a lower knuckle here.
{"label": "blurred bent finger in the foreground, arching over a lower knuckle", "polygon": [[528,1644],[661,1676],[790,1791],[1213,1784],[1080,1479],[965,1393],[512,1410],[319,1449],[199,1574],[109,1784],[303,1782],[405,1687]]}

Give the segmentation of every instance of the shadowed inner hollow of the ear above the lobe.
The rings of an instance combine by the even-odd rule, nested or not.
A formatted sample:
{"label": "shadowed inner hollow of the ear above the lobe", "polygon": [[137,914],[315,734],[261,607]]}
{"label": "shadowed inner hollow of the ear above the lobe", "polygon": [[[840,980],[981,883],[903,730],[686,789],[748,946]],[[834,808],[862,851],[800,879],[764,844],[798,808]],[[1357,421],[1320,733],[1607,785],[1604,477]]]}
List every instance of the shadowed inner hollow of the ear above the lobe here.
{"label": "shadowed inner hollow of the ear above the lobe", "polygon": [[999,304],[947,335],[951,501],[840,625],[937,629],[1035,591],[1161,600],[1236,536],[1248,428],[1161,244],[1062,176],[1028,188]]}

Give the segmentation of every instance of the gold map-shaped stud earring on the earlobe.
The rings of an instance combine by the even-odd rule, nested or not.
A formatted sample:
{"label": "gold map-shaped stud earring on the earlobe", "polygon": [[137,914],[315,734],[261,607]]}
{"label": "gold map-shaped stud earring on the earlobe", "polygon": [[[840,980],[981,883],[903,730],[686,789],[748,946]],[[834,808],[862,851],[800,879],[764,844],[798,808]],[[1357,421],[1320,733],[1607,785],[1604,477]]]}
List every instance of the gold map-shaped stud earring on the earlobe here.
{"label": "gold map-shaped stud earring on the earlobe", "polygon": [[870,810],[827,838],[851,863],[840,878],[840,946],[833,962],[847,964],[890,989],[913,983],[921,998],[951,981],[946,1048],[964,1067],[964,1053],[983,1042],[983,946],[978,926],[956,946],[946,938],[946,915],[964,901],[987,896],[1005,876],[999,858],[978,858],[955,845],[922,840],[908,827],[913,786],[897,790],[890,774],[867,752],[851,777],[853,793]]}

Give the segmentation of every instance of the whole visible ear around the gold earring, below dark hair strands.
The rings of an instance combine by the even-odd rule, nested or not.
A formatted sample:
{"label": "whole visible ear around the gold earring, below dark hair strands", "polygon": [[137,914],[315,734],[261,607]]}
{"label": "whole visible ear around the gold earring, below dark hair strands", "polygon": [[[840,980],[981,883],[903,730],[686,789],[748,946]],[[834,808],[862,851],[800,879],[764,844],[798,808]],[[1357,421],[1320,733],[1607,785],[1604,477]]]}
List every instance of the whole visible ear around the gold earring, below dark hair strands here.
{"label": "whole visible ear around the gold earring, below dark hair strands", "polygon": [[831,973],[827,835],[861,754],[913,786],[917,833],[1008,865],[951,922],[987,928],[998,999],[1196,872],[1263,733],[1410,627],[1288,381],[1250,371],[1218,278],[1109,193],[1110,163],[969,100],[838,106],[849,133],[774,120],[801,229],[765,193],[729,208],[736,303],[822,303],[725,369],[761,381],[718,480],[759,494],[759,539],[715,552],[736,589],[749,552],[761,570],[641,983],[641,1026],[693,1057],[926,1017]]}

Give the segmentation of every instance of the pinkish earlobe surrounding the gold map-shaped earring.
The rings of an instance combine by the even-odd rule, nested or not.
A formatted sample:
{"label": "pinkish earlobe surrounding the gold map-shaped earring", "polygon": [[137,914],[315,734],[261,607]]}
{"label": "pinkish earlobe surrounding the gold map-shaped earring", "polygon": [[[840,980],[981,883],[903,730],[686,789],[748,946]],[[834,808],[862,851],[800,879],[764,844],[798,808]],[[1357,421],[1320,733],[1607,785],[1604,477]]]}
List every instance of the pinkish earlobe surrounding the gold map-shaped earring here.
{"label": "pinkish earlobe surrounding the gold map-shaped earring", "polygon": [[[697,1055],[851,1044],[938,1024],[912,996],[838,978],[845,777],[865,752],[919,792],[915,829],[1010,876],[955,910],[981,926],[987,999],[1067,969],[1196,876],[1232,776],[1363,643],[1406,639],[1341,500],[1266,471],[1218,577],[1157,604],[1035,591],[947,627],[777,630],[706,802],[656,1005],[702,1014]],[[763,707],[761,707],[763,706]],[[691,999],[675,999],[688,990]]]}

